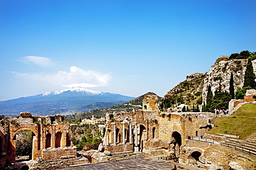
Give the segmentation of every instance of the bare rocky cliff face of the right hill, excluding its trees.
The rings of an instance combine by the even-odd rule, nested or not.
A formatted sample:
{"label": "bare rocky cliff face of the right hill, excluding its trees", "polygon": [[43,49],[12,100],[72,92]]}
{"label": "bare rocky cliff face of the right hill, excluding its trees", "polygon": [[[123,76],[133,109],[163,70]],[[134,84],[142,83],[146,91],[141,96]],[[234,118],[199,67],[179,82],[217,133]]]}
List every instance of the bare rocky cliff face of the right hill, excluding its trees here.
{"label": "bare rocky cliff face of the right hill, excluding its trees", "polygon": [[[199,104],[206,100],[209,85],[213,94],[218,89],[222,92],[229,92],[231,73],[236,92],[244,85],[247,63],[248,59],[230,59],[228,56],[220,56],[205,74],[196,73],[187,76],[185,81],[170,89],[161,101],[161,108],[167,109],[179,103]],[[256,73],[256,60],[252,63]]]}

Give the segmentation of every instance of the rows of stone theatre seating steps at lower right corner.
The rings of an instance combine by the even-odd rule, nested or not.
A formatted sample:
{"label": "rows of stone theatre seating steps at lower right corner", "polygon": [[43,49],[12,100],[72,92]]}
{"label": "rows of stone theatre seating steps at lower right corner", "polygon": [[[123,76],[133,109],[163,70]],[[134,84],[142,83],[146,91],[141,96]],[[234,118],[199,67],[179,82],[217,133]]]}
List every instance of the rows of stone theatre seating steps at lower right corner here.
{"label": "rows of stone theatre seating steps at lower right corner", "polygon": [[221,145],[256,157],[256,134],[244,141],[235,139],[226,140],[225,142],[221,142]]}

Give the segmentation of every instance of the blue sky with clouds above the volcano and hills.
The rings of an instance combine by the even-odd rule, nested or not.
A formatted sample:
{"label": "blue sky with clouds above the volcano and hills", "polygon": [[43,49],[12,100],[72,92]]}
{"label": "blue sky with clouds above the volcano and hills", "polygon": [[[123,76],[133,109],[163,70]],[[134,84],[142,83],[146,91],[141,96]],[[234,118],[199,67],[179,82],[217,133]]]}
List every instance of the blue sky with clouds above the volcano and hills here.
{"label": "blue sky with clouds above the volcano and hills", "polygon": [[0,1],[0,100],[85,87],[164,96],[256,51],[256,1]]}

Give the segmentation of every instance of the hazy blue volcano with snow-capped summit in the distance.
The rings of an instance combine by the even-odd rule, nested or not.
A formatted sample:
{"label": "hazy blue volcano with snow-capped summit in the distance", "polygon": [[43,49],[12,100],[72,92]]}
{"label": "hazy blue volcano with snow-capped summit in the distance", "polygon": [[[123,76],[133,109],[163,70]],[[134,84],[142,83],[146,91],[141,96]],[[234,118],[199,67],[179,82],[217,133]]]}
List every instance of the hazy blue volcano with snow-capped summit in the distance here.
{"label": "hazy blue volcano with snow-capped summit in the distance", "polygon": [[[21,111],[30,111],[31,114],[35,116],[68,114],[76,111],[89,111],[102,107],[105,108],[118,105],[132,99],[134,98],[122,96],[120,94],[95,92],[83,88],[71,88],[57,92],[47,92],[36,96],[1,101],[0,112],[5,116],[16,116],[19,115],[19,112]],[[113,104],[114,102],[119,103]],[[98,104],[91,105],[93,103]]]}

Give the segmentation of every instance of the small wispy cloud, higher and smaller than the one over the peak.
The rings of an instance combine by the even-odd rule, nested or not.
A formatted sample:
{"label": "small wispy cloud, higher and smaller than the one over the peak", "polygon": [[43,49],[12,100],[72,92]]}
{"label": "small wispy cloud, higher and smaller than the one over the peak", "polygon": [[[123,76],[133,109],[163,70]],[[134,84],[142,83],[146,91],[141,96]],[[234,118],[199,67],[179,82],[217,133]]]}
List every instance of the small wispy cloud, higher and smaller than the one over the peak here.
{"label": "small wispy cloud, higher and smaller than the one over the peak", "polygon": [[41,67],[50,67],[54,65],[51,59],[42,56],[24,56],[24,59],[21,61],[24,63],[34,63]]}

